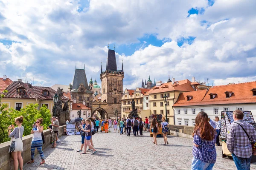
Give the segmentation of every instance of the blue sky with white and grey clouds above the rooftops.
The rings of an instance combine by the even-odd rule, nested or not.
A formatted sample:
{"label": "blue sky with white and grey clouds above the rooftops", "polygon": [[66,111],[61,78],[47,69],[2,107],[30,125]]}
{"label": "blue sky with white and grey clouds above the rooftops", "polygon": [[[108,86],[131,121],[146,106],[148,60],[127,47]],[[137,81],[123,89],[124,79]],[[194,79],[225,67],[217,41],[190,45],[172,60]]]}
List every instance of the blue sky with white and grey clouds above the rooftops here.
{"label": "blue sky with white and grey clouds above the rooftops", "polygon": [[256,81],[255,0],[0,0],[0,77],[101,85],[115,45],[123,88],[142,79]]}

